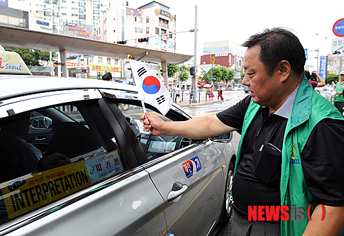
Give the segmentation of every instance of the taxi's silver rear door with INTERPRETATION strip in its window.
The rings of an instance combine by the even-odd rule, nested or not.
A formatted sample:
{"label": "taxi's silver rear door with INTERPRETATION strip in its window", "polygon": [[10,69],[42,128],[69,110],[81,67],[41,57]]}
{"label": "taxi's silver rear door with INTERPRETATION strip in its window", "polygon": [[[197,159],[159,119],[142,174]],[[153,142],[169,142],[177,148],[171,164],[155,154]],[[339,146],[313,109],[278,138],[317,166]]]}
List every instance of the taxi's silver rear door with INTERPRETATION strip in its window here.
{"label": "taxi's silver rear door with INTERPRETATION strip in its window", "polygon": [[[97,89],[2,102],[0,114],[39,110],[49,116],[74,116],[74,121],[54,129],[48,155],[39,160],[48,164],[0,182],[0,235],[166,234],[163,198]],[[76,113],[63,111],[63,105],[77,107]],[[12,117],[1,121],[12,122]],[[70,161],[56,166],[45,160],[50,153]],[[12,155],[0,157],[1,168],[12,165]]]}

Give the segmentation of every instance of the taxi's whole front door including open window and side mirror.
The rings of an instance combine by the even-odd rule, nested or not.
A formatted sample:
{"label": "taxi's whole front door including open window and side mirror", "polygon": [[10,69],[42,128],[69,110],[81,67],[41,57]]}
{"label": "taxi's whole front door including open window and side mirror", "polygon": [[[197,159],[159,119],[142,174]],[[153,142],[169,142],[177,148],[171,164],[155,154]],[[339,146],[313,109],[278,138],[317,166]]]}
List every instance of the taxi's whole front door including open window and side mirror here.
{"label": "taxi's whole front door including open window and side mirror", "polygon": [[[168,233],[208,235],[221,211],[221,189],[225,181],[214,144],[209,140],[144,133],[139,127],[143,115],[139,101],[117,101],[120,102],[126,103],[128,109],[122,111],[123,116],[141,144],[134,148],[145,151],[145,157],[141,156],[145,161],[142,166],[163,197]],[[183,111],[176,109],[162,116],[154,107],[146,107],[165,121],[179,120],[183,114]]]}

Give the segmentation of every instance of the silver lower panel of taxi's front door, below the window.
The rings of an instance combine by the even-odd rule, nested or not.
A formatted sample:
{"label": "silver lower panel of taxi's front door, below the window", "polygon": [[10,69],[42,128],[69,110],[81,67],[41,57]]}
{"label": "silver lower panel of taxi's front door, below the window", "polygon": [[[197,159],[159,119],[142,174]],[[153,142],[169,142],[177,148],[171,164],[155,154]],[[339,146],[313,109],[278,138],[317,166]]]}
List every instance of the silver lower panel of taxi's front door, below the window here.
{"label": "silver lower panel of taxi's front door, below the window", "polygon": [[223,199],[223,169],[212,142],[190,144],[143,167],[163,196],[168,233],[208,235]]}

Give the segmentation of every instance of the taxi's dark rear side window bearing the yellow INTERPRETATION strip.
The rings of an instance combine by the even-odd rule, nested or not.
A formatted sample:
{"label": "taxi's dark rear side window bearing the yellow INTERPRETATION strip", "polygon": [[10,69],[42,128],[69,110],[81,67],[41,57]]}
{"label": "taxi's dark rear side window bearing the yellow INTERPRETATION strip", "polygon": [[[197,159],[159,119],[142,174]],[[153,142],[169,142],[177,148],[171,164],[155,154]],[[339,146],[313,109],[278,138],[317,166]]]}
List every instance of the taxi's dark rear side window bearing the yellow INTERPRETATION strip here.
{"label": "taxi's dark rear side window bearing the yellow INTERPRETATION strip", "polygon": [[127,169],[97,100],[0,118],[0,224]]}

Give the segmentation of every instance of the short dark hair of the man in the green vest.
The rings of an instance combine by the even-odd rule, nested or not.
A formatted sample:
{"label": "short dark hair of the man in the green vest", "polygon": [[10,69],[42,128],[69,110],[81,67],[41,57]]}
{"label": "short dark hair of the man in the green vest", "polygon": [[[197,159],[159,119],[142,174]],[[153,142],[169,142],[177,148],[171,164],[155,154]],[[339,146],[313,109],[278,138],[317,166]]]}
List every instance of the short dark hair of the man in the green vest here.
{"label": "short dark hair of the man in the green vest", "polygon": [[306,56],[305,50],[299,39],[289,30],[284,28],[265,29],[259,34],[250,36],[243,43],[243,47],[259,45],[261,53],[259,60],[265,65],[265,69],[272,76],[277,64],[285,60],[290,63],[296,74],[303,74]]}

